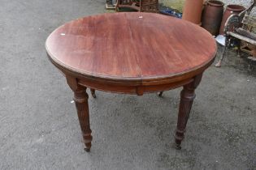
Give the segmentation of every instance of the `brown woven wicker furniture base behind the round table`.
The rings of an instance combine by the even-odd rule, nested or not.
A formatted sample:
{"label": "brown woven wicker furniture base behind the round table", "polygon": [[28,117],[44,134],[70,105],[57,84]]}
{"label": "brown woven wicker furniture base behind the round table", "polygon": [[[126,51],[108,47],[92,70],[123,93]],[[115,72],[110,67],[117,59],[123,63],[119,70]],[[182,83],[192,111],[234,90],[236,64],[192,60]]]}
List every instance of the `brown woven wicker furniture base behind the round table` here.
{"label": "brown woven wicker furniture base behind the round table", "polygon": [[140,12],[158,13],[158,0],[118,0],[115,6],[115,11],[119,8],[129,8]]}

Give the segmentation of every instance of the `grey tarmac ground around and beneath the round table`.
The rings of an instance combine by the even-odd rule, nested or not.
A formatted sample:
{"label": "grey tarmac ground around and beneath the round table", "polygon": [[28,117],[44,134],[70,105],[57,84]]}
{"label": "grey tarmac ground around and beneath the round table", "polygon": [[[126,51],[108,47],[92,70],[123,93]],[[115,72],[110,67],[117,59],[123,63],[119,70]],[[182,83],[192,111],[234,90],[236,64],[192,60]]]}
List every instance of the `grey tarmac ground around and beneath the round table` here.
{"label": "grey tarmac ground around and beneath the round table", "polygon": [[97,91],[86,153],[72,91],[44,45],[59,25],[106,12],[104,0],[0,3],[1,170],[256,169],[255,62],[230,51],[206,71],[180,151],[172,136],[180,89],[163,98]]}

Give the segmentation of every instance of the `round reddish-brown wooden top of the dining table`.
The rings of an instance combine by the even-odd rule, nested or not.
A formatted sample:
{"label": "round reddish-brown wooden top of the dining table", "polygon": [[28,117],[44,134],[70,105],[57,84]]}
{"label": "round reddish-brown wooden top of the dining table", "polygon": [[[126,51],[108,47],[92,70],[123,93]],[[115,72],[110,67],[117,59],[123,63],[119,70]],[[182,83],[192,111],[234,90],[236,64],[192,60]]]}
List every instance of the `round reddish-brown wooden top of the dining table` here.
{"label": "round reddish-brown wooden top of the dining table", "polygon": [[90,78],[171,79],[206,69],[215,39],[196,24],[166,15],[93,15],[57,28],[46,40],[51,62]]}

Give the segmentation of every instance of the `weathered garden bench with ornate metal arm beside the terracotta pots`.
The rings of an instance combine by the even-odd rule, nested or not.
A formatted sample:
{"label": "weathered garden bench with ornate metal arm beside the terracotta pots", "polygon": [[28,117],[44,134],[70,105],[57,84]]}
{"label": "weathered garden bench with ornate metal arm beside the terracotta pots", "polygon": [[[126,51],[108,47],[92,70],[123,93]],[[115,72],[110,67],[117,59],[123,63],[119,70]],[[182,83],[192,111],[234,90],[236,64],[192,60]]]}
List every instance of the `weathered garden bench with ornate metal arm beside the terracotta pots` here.
{"label": "weathered garden bench with ornate metal arm beside the terracotta pots", "polygon": [[252,0],[250,6],[239,15],[228,17],[224,27],[224,36],[226,36],[225,47],[219,62],[215,65],[216,67],[221,66],[226,49],[230,46],[232,39],[238,40],[238,57],[240,57],[241,53],[241,40],[251,45],[256,45],[256,34],[251,32],[252,28],[256,28],[256,18],[250,14],[254,6],[256,6],[256,0]]}

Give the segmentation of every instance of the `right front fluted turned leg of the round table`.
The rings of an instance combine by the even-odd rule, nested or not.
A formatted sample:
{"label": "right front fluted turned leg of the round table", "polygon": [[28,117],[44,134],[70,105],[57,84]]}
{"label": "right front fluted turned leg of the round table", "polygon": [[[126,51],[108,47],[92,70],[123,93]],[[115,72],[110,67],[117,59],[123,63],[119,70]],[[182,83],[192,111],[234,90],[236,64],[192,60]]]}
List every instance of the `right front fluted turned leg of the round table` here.
{"label": "right front fluted turned leg of the round table", "polygon": [[184,85],[183,90],[180,92],[180,108],[177,122],[177,129],[175,135],[176,149],[181,149],[180,144],[184,139],[184,131],[189,119],[189,113],[196,97],[195,89],[202,79],[202,74],[194,77],[193,82]]}

